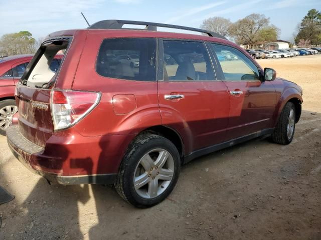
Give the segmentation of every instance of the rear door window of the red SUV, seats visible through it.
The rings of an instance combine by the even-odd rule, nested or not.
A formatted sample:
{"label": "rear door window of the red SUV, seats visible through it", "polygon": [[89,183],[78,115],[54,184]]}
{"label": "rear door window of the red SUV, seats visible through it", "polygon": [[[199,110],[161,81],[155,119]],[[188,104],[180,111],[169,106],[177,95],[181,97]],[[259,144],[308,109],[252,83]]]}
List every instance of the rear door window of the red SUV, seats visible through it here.
{"label": "rear door window of the red SUV, seats visible through it", "polygon": [[204,42],[163,40],[165,80],[215,80]]}

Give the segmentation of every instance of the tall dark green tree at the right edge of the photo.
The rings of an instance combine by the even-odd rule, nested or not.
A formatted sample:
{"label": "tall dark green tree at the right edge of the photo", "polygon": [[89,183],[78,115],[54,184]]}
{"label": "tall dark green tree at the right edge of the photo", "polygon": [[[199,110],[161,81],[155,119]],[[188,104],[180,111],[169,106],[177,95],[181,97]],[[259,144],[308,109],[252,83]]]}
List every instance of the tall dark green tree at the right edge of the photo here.
{"label": "tall dark green tree at the right edge of the photo", "polygon": [[321,12],[315,8],[310,9],[300,23],[299,31],[295,37],[295,43],[309,40],[311,44],[320,44],[321,39]]}

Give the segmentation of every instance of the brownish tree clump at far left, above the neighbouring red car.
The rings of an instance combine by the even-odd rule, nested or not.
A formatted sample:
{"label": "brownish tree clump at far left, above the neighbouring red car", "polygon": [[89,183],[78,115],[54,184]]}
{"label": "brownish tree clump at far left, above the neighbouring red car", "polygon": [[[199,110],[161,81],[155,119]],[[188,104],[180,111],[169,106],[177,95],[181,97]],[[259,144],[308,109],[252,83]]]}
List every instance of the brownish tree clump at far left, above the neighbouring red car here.
{"label": "brownish tree clump at far left, above the neighbouring red car", "polygon": [[34,53],[36,39],[29,31],[4,34],[0,38],[0,51],[7,55]]}

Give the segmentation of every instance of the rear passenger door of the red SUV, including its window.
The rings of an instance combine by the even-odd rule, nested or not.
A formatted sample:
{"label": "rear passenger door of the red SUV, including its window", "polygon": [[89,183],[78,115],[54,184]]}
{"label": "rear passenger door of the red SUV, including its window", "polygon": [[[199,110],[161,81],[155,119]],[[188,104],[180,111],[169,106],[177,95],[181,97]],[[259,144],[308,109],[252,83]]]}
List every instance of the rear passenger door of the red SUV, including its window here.
{"label": "rear passenger door of the red SUV, including its window", "polygon": [[177,130],[185,152],[224,140],[229,93],[217,81],[203,41],[159,40],[158,102],[162,123]]}

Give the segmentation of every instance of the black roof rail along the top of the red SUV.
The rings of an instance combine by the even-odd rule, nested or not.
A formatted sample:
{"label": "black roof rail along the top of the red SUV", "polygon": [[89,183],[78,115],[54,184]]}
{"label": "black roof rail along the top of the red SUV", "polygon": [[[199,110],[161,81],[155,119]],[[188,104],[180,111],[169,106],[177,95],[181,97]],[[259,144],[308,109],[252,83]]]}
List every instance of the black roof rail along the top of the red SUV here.
{"label": "black roof rail along the top of the red SUV", "polygon": [[208,30],[205,30],[205,29],[188,27],[188,26],[179,26],[179,25],[157,23],[157,22],[148,22],[148,21],[102,20],[102,21],[97,21],[97,22],[91,24],[90,26],[88,26],[88,29],[136,29],[136,28],[122,28],[122,26],[124,24],[144,25],[145,26],[145,28],[142,28],[142,29],[139,29],[139,30],[156,31],[157,30],[157,26],[159,26],[159,27],[168,27],[168,28],[189,30],[189,31],[197,31],[197,32],[206,33],[209,36],[214,36],[214,37],[219,37],[219,38],[226,39],[221,34],[218,34],[216,32],[212,32],[212,31],[208,31]]}

